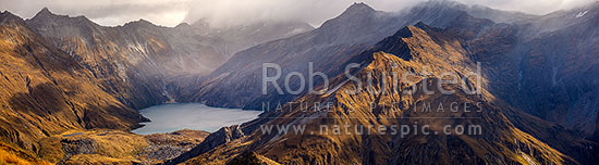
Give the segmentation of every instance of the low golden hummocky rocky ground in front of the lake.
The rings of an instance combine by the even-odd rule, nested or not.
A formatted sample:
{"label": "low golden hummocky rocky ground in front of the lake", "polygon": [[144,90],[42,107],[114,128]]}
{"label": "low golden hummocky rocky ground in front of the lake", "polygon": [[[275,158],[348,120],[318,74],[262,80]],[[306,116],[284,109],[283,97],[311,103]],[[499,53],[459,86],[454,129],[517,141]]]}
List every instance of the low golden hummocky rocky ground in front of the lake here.
{"label": "low golden hummocky rocky ground in front of the lake", "polygon": [[40,140],[40,157],[58,164],[158,164],[190,151],[208,132],[178,130],[139,136],[131,132],[97,129],[71,130]]}

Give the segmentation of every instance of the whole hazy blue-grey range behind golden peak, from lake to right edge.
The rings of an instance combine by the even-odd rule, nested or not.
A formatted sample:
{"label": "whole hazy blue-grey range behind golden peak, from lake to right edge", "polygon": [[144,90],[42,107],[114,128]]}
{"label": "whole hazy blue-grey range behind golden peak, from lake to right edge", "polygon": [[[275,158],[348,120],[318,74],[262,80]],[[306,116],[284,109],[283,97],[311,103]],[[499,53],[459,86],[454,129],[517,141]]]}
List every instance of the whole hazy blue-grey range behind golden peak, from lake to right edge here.
{"label": "whole hazy blue-grey range behind golden peak, from lake to right edge", "polygon": [[[481,63],[489,78],[486,88],[498,98],[527,113],[597,136],[598,111],[592,102],[598,80],[592,75],[598,66],[592,55],[597,54],[594,27],[598,12],[598,3],[540,16],[451,1],[426,2],[396,13],[355,3],[313,31],[236,53],[196,84],[181,88],[176,96],[181,101],[249,110],[261,110],[264,103],[290,102],[307,89],[301,94],[281,96],[276,88],[268,88],[268,94],[262,94],[262,63],[280,65],[282,75],[309,75],[308,64],[313,62],[314,71],[339,75],[355,62],[351,60],[356,54],[420,22],[438,28],[454,26],[448,34],[469,37],[463,47],[473,62]],[[320,82],[317,77],[314,84]],[[283,85],[284,77],[278,84]],[[298,80],[291,80],[290,87],[297,89]]]}

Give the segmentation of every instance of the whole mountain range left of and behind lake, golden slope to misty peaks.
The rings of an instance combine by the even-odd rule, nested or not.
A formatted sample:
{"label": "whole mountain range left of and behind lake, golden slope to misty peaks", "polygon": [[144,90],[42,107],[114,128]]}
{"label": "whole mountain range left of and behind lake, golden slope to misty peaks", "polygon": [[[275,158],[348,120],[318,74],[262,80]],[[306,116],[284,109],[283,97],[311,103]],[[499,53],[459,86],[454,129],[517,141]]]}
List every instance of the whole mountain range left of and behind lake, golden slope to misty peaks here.
{"label": "whole mountain range left of and behind lake, golden slope to misty peaks", "polygon": [[311,29],[292,22],[240,25],[222,33],[277,30],[220,37],[213,28],[144,20],[106,27],[49,9],[30,20],[2,12],[0,20],[0,138],[30,152],[41,138],[66,130],[139,127],[147,119],[135,110],[172,101],[172,77],[205,75],[231,52]]}

